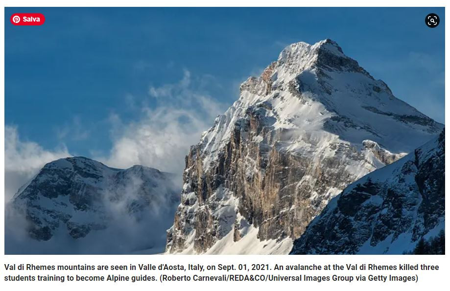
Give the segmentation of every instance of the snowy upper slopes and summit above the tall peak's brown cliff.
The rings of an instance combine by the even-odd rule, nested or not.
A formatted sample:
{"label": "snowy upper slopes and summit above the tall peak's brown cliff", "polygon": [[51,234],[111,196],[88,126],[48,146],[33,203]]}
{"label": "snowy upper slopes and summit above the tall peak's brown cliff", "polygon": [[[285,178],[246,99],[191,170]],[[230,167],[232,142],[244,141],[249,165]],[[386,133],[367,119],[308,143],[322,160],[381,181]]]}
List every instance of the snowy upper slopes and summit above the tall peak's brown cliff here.
{"label": "snowy upper slopes and summit above the tall peak's brown cliff", "polygon": [[[293,90],[285,92],[286,86]],[[274,129],[300,130],[297,135],[326,131],[356,146],[367,139],[403,156],[443,128],[397,99],[383,81],[375,80],[331,40],[287,46],[277,62],[259,78],[249,78],[241,90],[239,100],[201,138],[205,168],[230,139],[231,125],[251,106],[267,108],[264,114]],[[397,121],[396,126],[385,119]],[[292,143],[298,146],[298,140]]]}

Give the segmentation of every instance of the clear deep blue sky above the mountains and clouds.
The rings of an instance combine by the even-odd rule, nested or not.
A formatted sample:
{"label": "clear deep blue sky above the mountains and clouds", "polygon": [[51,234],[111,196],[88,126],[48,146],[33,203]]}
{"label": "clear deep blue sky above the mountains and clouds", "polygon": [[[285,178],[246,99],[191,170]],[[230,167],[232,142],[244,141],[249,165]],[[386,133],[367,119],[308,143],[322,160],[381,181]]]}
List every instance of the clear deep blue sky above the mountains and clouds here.
{"label": "clear deep blue sky above the mountains and clouds", "polygon": [[[16,12],[46,22],[14,26]],[[430,12],[437,28],[424,23]],[[5,16],[5,125],[43,149],[106,160],[133,138],[124,131],[142,134],[158,108],[195,112],[195,96],[208,102],[195,117],[206,130],[285,45],[326,38],[444,122],[444,8],[5,8]]]}

